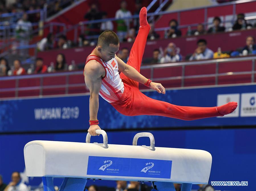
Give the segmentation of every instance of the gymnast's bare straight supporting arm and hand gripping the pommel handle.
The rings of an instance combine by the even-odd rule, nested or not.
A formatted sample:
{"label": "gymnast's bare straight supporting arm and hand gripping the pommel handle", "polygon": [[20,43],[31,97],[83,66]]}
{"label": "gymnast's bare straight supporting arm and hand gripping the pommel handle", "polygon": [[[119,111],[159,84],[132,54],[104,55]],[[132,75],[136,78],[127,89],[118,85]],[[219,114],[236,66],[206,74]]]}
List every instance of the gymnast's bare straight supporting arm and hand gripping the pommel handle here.
{"label": "gymnast's bare straight supporting arm and hand gripping the pommel handle", "polygon": [[[91,60],[85,65],[85,84],[90,90],[89,114],[90,120],[97,120],[99,110],[99,91],[101,89],[101,77],[105,75],[105,69],[96,60]],[[95,136],[98,125],[91,125],[88,132]]]}

